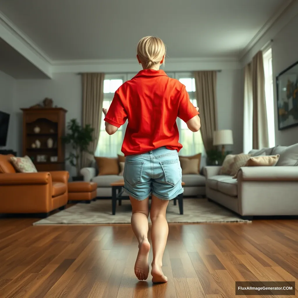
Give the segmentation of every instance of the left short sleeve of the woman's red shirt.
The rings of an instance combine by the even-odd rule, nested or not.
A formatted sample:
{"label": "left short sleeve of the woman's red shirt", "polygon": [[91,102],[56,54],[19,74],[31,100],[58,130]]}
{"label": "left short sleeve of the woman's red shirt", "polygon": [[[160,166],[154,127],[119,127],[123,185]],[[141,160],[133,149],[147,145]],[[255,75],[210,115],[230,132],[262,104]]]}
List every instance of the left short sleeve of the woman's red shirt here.
{"label": "left short sleeve of the woman's red shirt", "polygon": [[125,123],[126,119],[127,113],[125,111],[123,99],[121,98],[119,92],[116,91],[104,121],[119,128]]}

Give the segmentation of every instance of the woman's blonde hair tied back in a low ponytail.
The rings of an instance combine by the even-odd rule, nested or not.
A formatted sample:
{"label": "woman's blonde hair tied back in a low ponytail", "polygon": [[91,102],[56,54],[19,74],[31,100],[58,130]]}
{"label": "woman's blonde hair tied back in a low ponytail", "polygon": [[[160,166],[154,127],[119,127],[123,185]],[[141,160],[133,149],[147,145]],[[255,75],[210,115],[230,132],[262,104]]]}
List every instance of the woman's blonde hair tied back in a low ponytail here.
{"label": "woman's blonde hair tied back in a low ponytail", "polygon": [[160,38],[146,36],[139,41],[137,54],[142,63],[146,65],[146,68],[151,68],[155,64],[160,63],[163,55],[166,54],[166,47]]}

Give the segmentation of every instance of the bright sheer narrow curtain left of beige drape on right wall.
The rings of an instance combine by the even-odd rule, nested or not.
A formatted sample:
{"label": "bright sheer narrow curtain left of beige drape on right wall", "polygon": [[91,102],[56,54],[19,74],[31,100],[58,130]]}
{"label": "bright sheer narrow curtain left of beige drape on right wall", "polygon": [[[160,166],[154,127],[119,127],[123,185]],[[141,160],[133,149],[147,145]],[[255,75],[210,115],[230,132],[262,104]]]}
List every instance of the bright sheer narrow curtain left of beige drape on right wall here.
{"label": "bright sheer narrow curtain left of beige drape on right wall", "polygon": [[244,69],[243,152],[252,150],[252,63]]}

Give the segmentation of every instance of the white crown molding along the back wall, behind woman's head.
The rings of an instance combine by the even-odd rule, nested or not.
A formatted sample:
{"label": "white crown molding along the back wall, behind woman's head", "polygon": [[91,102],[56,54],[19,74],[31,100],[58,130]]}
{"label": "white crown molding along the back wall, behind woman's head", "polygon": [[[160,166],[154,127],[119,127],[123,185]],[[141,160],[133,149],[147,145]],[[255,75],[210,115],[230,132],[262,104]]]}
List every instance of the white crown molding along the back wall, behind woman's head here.
{"label": "white crown molding along the back wall, behind woman's head", "polygon": [[[167,71],[240,69],[238,58],[167,58]],[[53,61],[52,72],[138,72],[136,59],[59,60]]]}

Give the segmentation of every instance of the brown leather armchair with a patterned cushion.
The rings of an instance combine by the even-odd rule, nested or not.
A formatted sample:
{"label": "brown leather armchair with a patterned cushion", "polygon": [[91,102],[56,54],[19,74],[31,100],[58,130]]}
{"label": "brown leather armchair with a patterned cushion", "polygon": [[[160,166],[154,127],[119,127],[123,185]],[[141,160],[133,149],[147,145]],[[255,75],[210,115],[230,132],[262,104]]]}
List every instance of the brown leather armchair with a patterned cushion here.
{"label": "brown leather armchair with a patterned cushion", "polygon": [[0,213],[38,213],[47,217],[68,201],[67,171],[16,173],[13,155],[0,154]]}

